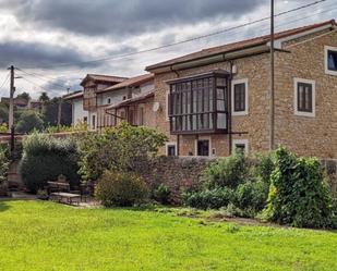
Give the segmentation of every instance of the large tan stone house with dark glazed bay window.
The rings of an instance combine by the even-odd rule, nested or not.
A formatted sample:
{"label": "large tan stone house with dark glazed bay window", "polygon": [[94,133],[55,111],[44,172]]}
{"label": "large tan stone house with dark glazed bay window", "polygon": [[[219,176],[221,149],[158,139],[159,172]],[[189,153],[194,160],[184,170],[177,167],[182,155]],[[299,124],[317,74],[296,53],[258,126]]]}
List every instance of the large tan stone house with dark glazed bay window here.
{"label": "large tan stone house with dark glazed bay window", "polygon": [[204,49],[149,65],[161,153],[228,156],[284,145],[301,156],[337,158],[335,21],[275,35],[270,122],[270,36]]}

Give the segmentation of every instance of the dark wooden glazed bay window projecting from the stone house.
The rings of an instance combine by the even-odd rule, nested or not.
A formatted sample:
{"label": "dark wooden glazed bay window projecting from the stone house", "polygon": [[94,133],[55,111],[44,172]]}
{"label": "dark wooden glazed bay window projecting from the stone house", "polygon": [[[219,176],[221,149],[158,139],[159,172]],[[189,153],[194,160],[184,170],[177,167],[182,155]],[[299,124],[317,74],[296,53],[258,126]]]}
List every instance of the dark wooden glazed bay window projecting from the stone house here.
{"label": "dark wooden glazed bay window projecting from the stone house", "polygon": [[171,134],[226,133],[228,73],[210,72],[169,82]]}

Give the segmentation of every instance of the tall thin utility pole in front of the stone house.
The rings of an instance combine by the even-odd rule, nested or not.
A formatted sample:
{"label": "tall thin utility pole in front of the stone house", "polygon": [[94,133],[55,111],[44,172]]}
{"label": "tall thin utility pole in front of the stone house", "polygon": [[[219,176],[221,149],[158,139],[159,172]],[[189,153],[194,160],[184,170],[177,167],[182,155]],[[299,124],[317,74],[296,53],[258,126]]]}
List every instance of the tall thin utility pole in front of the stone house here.
{"label": "tall thin utility pole in front of the stone house", "polygon": [[270,109],[269,150],[275,148],[275,61],[274,61],[274,0],[270,0]]}

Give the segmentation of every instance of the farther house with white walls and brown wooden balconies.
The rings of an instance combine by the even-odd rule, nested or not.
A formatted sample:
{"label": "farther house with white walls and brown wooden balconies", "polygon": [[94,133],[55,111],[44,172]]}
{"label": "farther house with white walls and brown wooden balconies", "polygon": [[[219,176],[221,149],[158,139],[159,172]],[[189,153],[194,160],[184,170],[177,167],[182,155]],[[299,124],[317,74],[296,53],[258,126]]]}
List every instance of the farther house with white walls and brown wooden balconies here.
{"label": "farther house with white walls and brown wooden balconies", "polygon": [[91,130],[115,126],[121,120],[151,124],[145,114],[152,106],[153,81],[153,74],[131,78],[88,74],[81,83],[84,90],[64,98],[72,103],[73,124],[87,122]]}

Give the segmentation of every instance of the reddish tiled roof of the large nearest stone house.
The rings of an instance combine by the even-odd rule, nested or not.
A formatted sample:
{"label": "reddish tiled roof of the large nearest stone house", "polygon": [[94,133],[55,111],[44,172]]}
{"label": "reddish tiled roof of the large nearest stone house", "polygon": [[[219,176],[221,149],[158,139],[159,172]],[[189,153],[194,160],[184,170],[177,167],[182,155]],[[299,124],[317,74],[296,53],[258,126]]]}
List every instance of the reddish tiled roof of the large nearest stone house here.
{"label": "reddish tiled roof of the large nearest stone house", "polygon": [[[330,20],[330,21],[326,21],[326,22],[323,22],[323,23],[318,23],[318,24],[302,26],[302,27],[292,28],[292,29],[288,29],[288,30],[285,30],[285,32],[276,33],[275,39],[290,37],[292,35],[297,35],[297,34],[308,32],[308,30],[311,30],[311,29],[315,29],[315,28],[326,26],[326,25],[336,26],[336,22],[335,22],[335,20]],[[160,63],[157,63],[157,64],[154,64],[154,65],[149,65],[145,70],[152,71],[152,70],[157,69],[157,67],[164,67],[164,66],[168,66],[168,65],[172,65],[172,64],[177,64],[177,63],[183,63],[183,62],[188,62],[188,61],[191,61],[191,60],[202,59],[202,58],[205,58],[205,57],[215,56],[215,54],[219,54],[219,53],[224,53],[224,52],[237,51],[237,50],[241,50],[241,49],[253,47],[253,46],[265,45],[269,40],[270,40],[270,35],[264,35],[264,36],[260,36],[260,37],[255,37],[255,38],[251,38],[251,39],[245,39],[245,40],[242,40],[242,41],[239,41],[239,42],[217,46],[217,47],[204,49],[204,50],[201,50],[201,51],[197,51],[197,52],[193,52],[193,53],[180,57],[180,58],[164,61],[164,62],[160,62]]]}

